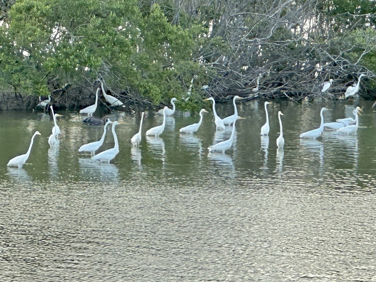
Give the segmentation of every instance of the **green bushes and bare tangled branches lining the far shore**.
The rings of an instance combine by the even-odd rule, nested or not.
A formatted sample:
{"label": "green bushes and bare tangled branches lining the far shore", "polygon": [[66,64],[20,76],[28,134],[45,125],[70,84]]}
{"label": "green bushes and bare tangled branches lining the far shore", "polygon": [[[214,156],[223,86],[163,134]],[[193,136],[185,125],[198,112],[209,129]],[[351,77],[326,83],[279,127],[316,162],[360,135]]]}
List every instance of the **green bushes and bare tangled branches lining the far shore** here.
{"label": "green bushes and bare tangled branches lining the far shore", "polygon": [[[0,3],[0,110],[376,96],[374,1],[46,0]],[[359,76],[364,74],[360,82]],[[325,82],[330,87],[322,92]],[[99,106],[107,107],[100,94]]]}

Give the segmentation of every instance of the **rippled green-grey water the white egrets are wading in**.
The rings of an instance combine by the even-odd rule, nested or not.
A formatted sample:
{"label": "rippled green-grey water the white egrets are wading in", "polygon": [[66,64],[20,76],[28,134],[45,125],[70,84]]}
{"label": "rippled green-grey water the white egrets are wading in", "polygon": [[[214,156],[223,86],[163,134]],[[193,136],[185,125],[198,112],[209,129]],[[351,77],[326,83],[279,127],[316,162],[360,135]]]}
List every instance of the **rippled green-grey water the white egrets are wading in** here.
{"label": "rippled green-grey water the white egrets are wading in", "polygon": [[[0,112],[0,280],[2,281],[375,281],[376,112],[360,101],[355,136],[325,132],[300,140],[356,105],[264,101],[239,104],[233,147],[212,112],[194,135],[179,128],[197,114],[167,119],[159,137],[130,146],[139,115],[113,114],[120,153],[111,164],[78,153],[103,126],[61,112],[59,144],[47,143],[52,119],[42,112]],[[208,103],[208,109],[210,109]],[[179,108],[179,105],[177,105]],[[277,112],[285,148],[277,150]],[[218,105],[218,115],[233,113]],[[144,118],[143,133],[162,123]],[[9,159],[32,152],[22,169]],[[100,150],[114,146],[111,130]],[[99,150],[99,151],[100,151]]]}

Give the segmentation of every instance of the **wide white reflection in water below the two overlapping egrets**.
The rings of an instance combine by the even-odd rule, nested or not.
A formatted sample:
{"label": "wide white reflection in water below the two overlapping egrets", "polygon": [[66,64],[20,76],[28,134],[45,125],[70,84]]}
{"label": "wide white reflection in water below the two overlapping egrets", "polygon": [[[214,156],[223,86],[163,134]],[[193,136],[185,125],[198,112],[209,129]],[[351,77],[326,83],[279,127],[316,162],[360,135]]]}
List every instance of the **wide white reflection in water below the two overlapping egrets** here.
{"label": "wide white reflection in water below the two overlapping egrets", "polygon": [[78,160],[83,176],[88,179],[96,179],[102,182],[118,182],[119,169],[114,164],[97,162],[89,158]]}

